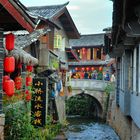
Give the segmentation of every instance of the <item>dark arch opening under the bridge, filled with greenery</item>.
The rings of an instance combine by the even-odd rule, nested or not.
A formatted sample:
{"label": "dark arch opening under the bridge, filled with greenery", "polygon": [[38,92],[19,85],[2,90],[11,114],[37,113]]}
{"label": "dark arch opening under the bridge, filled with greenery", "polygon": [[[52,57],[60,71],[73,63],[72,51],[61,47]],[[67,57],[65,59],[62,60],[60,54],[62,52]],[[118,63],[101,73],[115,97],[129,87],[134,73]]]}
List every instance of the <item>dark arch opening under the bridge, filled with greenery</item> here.
{"label": "dark arch opening under the bridge, filled with greenery", "polygon": [[102,118],[103,109],[101,103],[89,94],[76,94],[66,101],[67,115],[79,115],[88,118]]}

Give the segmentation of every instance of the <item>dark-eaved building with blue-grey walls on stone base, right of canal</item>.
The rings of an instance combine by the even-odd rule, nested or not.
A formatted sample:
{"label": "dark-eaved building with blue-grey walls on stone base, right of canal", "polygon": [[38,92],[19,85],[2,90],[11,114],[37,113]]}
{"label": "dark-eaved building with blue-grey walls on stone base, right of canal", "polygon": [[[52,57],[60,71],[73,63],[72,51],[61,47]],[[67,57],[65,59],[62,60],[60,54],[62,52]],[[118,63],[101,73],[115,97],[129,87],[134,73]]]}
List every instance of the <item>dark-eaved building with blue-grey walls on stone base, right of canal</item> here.
{"label": "dark-eaved building with blue-grey walls on stone base, right of canal", "polygon": [[117,60],[116,106],[111,125],[123,140],[140,138],[139,20],[139,0],[113,1],[112,41],[106,44],[110,56]]}

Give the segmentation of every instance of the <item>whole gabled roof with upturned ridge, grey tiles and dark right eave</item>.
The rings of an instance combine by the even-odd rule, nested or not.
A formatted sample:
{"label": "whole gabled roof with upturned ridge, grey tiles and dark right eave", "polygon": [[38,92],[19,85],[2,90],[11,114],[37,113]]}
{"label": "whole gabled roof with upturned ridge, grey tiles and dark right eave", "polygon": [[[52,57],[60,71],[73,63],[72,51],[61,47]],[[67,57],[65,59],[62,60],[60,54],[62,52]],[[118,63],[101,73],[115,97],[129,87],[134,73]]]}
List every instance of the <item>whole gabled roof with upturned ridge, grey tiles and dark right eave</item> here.
{"label": "whole gabled roof with upturned ridge, grey tiles and dark right eave", "polygon": [[28,10],[32,15],[38,16],[41,20],[52,22],[58,27],[60,27],[60,25],[57,25],[57,20],[59,20],[69,39],[76,39],[80,37],[80,34],[66,8],[68,3],[28,7]]}

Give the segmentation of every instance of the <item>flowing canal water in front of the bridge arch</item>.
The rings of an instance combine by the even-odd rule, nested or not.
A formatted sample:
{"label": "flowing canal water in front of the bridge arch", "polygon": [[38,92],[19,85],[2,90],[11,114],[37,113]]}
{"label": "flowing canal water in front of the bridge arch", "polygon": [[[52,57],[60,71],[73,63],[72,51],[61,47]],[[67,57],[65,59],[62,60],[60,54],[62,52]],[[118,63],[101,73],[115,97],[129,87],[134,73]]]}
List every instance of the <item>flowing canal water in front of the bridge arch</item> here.
{"label": "flowing canal water in front of the bridge arch", "polygon": [[70,124],[65,132],[68,140],[120,140],[114,130],[92,120],[70,119]]}

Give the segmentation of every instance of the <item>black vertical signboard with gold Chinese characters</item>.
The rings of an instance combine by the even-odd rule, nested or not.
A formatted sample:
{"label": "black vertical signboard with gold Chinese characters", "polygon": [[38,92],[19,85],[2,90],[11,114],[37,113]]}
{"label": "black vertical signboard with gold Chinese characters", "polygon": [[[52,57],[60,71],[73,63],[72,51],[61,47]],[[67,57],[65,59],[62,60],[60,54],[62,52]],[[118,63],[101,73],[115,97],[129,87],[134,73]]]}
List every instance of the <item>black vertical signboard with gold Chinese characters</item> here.
{"label": "black vertical signboard with gold Chinese characters", "polygon": [[34,78],[33,87],[35,94],[31,102],[32,124],[43,127],[46,123],[46,79]]}

